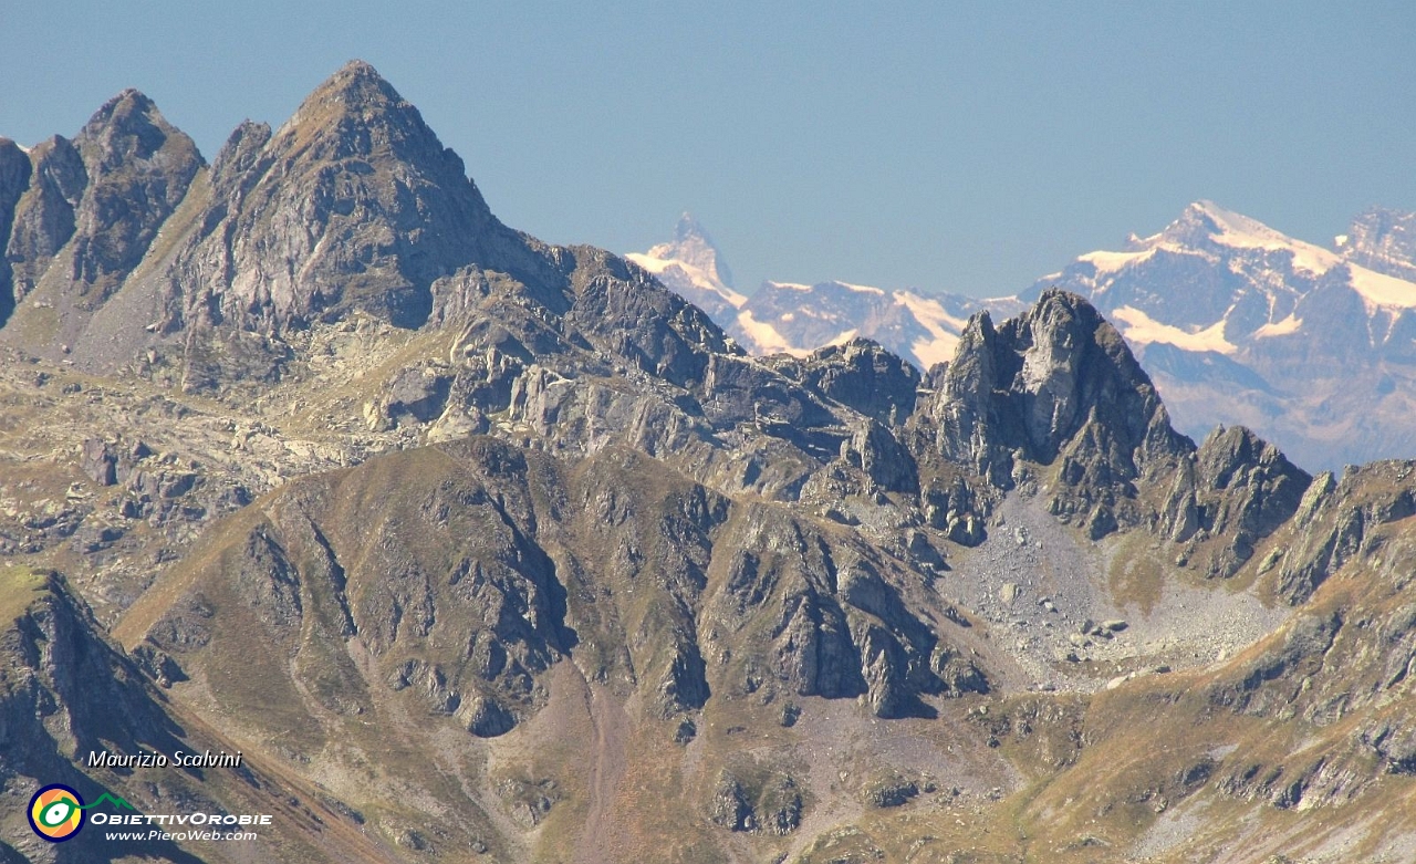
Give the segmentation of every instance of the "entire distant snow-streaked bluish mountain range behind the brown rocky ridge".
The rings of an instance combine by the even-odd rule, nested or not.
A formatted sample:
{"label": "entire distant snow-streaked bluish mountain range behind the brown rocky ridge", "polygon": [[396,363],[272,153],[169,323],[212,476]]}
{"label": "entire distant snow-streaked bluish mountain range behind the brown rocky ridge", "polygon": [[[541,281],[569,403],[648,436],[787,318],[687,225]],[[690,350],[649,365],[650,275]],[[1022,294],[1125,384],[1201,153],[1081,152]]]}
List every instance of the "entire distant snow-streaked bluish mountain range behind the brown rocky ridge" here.
{"label": "entire distant snow-streaked bluish mountain range behind the brown rocky ridge", "polygon": [[1192,438],[1245,425],[1311,469],[1413,450],[1416,214],[1369,210],[1327,249],[1198,201],[1155,235],[988,300],[844,282],[765,282],[745,297],[687,215],[673,244],[629,258],[750,353],[867,337],[925,371],[971,314],[1011,317],[1061,286],[1112,319]]}

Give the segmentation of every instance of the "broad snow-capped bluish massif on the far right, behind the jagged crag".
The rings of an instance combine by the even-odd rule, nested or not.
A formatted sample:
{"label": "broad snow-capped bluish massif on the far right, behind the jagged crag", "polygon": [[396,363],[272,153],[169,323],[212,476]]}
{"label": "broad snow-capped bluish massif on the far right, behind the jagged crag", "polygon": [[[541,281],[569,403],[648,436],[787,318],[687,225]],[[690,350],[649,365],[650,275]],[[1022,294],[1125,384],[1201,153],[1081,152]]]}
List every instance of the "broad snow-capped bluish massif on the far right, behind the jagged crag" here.
{"label": "broad snow-capped bluish massif on the far right, behind the jagged crag", "polygon": [[1331,251],[1199,201],[1160,234],[1082,255],[1024,296],[1056,285],[1090,299],[1192,436],[1245,425],[1310,469],[1410,457],[1413,221],[1369,211]]}

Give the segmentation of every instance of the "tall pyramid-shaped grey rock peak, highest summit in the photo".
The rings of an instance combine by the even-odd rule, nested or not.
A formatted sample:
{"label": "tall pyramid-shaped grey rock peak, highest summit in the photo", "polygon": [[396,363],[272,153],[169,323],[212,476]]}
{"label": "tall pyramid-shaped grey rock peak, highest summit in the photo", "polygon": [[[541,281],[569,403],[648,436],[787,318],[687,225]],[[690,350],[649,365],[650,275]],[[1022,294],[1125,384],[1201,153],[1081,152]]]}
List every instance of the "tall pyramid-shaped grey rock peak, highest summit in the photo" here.
{"label": "tall pyramid-shaped grey rock peak, highest summit in the photo", "polygon": [[244,125],[212,167],[214,197],[171,290],[207,323],[256,331],[360,309],[399,327],[432,312],[433,280],[521,242],[462,160],[372,67],[351,62],[273,136]]}

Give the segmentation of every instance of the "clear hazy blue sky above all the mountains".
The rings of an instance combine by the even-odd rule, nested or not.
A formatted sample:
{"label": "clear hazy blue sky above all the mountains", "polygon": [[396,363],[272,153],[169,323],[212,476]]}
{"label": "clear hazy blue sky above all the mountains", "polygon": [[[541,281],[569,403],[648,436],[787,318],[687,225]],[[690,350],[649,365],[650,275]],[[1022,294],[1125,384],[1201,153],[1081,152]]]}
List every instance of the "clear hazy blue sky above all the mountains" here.
{"label": "clear hazy blue sky above all the mountains", "polygon": [[0,0],[0,135],[126,86],[211,159],[372,62],[493,211],[739,286],[1012,293],[1211,198],[1327,244],[1416,210],[1416,4]]}

